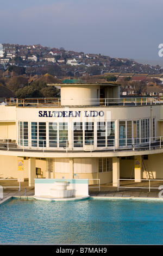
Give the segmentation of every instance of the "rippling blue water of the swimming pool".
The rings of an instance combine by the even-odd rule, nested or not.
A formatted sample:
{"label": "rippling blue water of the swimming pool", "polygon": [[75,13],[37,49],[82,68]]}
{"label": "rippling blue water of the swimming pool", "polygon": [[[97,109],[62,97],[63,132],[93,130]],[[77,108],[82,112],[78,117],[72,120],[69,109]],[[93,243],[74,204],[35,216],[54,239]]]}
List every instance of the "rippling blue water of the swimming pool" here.
{"label": "rippling blue water of the swimming pool", "polygon": [[10,200],[0,206],[0,243],[162,245],[163,202]]}

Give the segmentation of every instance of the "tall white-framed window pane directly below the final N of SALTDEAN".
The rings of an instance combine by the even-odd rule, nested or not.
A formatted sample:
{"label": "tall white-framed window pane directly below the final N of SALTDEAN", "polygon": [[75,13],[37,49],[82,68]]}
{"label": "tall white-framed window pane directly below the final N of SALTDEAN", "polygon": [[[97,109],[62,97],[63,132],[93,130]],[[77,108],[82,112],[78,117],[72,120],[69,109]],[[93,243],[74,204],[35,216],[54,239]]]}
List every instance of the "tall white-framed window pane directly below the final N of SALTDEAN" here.
{"label": "tall white-framed window pane directly below the final N of SALTDEAN", "polygon": [[83,124],[73,124],[73,145],[74,147],[83,147]]}

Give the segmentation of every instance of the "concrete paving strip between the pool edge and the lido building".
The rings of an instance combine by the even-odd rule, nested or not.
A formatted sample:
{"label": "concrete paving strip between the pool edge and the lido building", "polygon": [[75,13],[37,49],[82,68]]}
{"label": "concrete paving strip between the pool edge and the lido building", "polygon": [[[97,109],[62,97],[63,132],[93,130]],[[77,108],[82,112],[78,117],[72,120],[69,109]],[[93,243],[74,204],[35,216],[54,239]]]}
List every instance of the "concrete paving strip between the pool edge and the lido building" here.
{"label": "concrete paving strip between the pool edge and the lido building", "polygon": [[[28,186],[28,180],[21,182],[20,190],[18,182],[15,180],[12,181],[10,179],[1,180],[0,185],[3,186],[3,200],[6,200],[9,197],[33,197],[35,194],[34,187]],[[133,181],[123,181],[121,187],[117,189],[117,187],[113,187],[112,184],[104,184],[99,188],[89,188],[89,195],[91,197],[110,197],[110,198],[160,198],[161,190],[159,190],[159,186],[163,185],[163,181],[154,181],[153,186],[149,191],[147,181],[143,182],[133,182]],[[10,187],[9,187],[10,186]],[[123,187],[122,187],[123,186]],[[129,186],[129,188],[127,187]],[[133,186],[133,188],[130,188]],[[125,187],[125,188],[124,188]],[[135,188],[137,187],[137,188]],[[145,187],[145,188],[139,188]],[[163,198],[163,191],[162,191],[162,198]]]}

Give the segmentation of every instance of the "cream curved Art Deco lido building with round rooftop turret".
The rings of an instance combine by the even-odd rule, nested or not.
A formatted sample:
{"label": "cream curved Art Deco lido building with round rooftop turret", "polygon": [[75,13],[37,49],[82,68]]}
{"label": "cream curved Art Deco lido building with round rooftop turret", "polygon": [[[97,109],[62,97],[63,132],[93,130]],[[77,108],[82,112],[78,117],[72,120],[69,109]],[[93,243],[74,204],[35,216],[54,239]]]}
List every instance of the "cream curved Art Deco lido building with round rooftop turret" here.
{"label": "cream curved Art Deco lido building with round rooftop turret", "polygon": [[[120,99],[118,84],[54,84],[60,99],[0,106],[0,174],[81,178],[117,186],[119,178],[162,179],[162,103]],[[21,168],[20,168],[21,167]]]}

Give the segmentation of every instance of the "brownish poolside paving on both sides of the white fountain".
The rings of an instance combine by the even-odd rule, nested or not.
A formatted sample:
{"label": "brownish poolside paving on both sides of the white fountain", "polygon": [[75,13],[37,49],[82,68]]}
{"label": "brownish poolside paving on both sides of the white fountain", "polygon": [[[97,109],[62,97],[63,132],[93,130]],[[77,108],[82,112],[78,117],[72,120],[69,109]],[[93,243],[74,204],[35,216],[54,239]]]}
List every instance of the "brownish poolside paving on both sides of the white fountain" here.
{"label": "brownish poolside paving on both sides of the white fountain", "polygon": [[[18,190],[18,188],[10,188],[7,187],[7,183],[9,181],[5,181],[5,188],[3,188],[3,200],[5,200],[8,197],[33,197],[35,194],[34,186],[30,187],[28,185],[28,180],[21,182],[21,188]],[[3,182],[0,179],[0,185],[4,186]],[[126,183],[124,184],[126,186]],[[137,184],[136,184],[137,185]],[[136,186],[134,184],[134,186]],[[159,184],[158,184],[159,185]],[[10,181],[11,186],[11,181]],[[14,182],[13,182],[14,186]],[[140,184],[137,185],[138,187]],[[141,183],[141,186],[143,186],[143,183]],[[146,185],[145,185],[146,186]],[[159,186],[158,186],[159,187]],[[100,186],[99,189],[96,188],[89,188],[89,195],[91,197],[110,197],[110,198],[160,198],[159,197],[160,190],[158,188],[153,188],[151,191],[149,191],[148,188],[119,188],[117,190],[117,187],[113,187],[112,184],[104,184]],[[163,192],[162,192],[163,194]],[[163,198],[163,195],[162,195]]]}

